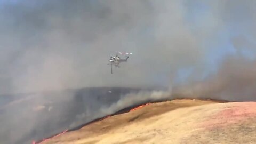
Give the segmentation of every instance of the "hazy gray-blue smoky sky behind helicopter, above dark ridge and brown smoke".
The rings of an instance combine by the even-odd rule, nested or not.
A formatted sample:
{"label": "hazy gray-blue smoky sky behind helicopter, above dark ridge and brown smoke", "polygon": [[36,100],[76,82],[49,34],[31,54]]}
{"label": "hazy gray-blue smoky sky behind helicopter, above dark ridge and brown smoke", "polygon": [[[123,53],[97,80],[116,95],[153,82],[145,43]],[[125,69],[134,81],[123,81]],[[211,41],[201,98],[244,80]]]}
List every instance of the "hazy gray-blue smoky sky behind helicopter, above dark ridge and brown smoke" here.
{"label": "hazy gray-blue smoky sky behind helicopter, above dark ridge and brown smoke", "polygon": [[[1,92],[170,86],[255,58],[254,1],[1,1]],[[115,51],[134,53],[107,66]],[[241,56],[242,55],[242,56]]]}

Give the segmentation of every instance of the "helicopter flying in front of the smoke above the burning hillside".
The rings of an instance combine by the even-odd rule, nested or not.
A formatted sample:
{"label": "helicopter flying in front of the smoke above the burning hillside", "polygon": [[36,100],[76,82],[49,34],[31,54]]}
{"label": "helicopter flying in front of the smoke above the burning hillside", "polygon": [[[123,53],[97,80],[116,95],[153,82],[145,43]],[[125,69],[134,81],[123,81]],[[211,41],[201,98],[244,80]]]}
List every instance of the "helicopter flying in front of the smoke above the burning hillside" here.
{"label": "helicopter flying in front of the smoke above the burning hillside", "polygon": [[115,67],[119,68],[119,64],[121,62],[127,62],[129,56],[127,55],[125,59],[121,59],[118,54],[132,54],[132,53],[128,53],[128,52],[116,52],[116,56],[112,56],[110,55],[110,59],[108,60],[109,61],[109,64],[111,66],[111,74],[113,74],[113,70],[112,70],[112,65],[115,65]]}

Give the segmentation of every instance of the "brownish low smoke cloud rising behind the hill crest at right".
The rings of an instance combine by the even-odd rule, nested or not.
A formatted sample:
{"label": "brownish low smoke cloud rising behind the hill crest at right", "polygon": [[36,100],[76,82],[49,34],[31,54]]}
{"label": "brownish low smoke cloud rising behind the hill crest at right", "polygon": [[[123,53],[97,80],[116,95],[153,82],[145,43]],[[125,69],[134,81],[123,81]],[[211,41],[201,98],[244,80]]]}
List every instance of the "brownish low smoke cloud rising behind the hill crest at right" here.
{"label": "brownish low smoke cloud rising behind the hill crest at right", "polygon": [[204,81],[178,86],[177,97],[212,98],[229,101],[256,100],[256,61],[230,57],[222,63],[217,74]]}

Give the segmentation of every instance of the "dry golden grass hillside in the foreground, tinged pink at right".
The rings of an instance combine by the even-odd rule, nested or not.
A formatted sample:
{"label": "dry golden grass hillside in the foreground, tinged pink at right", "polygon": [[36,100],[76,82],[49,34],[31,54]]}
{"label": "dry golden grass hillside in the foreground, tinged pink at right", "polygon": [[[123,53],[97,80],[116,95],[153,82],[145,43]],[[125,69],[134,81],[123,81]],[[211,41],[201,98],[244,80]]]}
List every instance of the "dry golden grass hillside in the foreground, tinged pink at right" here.
{"label": "dry golden grass hillside in the foreground, tinged pink at right", "polygon": [[42,143],[255,143],[255,103],[153,103]]}

